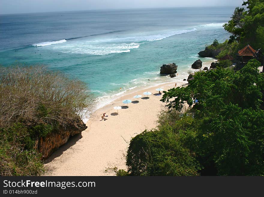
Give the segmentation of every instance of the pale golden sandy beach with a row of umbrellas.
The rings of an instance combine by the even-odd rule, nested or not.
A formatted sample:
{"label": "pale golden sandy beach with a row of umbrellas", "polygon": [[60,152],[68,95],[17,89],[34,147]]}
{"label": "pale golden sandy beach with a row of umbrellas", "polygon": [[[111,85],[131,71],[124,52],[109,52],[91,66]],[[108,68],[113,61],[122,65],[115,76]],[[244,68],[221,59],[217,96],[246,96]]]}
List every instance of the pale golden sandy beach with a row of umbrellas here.
{"label": "pale golden sandy beach with a row of umbrellas", "polygon": [[[178,82],[177,86],[183,84],[187,84],[187,81]],[[145,129],[155,128],[158,114],[165,109],[165,103],[160,101],[162,96],[155,89],[168,90],[174,85],[167,83],[140,89],[122,96],[122,100],[132,100],[128,106],[120,98],[98,109],[87,121],[88,128],[81,136],[73,137],[46,160],[45,175],[105,176],[115,175],[105,172],[108,167],[126,169],[125,153],[130,139]],[[145,97],[145,91],[152,92],[152,95]],[[138,102],[133,98],[137,94],[142,95]],[[122,106],[118,114],[114,106]],[[108,117],[106,121],[101,121],[104,112]]]}

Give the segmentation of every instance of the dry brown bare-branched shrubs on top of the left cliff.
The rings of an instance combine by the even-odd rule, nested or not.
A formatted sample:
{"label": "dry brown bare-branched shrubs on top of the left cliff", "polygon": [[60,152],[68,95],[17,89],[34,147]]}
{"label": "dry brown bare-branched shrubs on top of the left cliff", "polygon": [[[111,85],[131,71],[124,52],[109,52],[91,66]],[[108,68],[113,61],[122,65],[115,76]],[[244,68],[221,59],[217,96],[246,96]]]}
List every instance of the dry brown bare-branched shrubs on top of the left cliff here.
{"label": "dry brown bare-branched shrubs on top of the left cliff", "polygon": [[15,122],[66,125],[92,103],[86,85],[44,67],[1,68],[0,127]]}

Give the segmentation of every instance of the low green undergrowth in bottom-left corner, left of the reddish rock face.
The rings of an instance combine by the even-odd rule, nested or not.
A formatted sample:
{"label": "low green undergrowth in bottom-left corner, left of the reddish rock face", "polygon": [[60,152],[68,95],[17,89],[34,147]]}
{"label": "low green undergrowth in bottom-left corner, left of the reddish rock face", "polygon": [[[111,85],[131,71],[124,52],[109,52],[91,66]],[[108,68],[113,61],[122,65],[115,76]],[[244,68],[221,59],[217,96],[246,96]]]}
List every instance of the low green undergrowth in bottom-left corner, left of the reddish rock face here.
{"label": "low green undergrowth in bottom-left corner, left of the reddish rock face", "polygon": [[41,154],[26,126],[14,124],[0,129],[0,175],[36,176],[44,172]]}

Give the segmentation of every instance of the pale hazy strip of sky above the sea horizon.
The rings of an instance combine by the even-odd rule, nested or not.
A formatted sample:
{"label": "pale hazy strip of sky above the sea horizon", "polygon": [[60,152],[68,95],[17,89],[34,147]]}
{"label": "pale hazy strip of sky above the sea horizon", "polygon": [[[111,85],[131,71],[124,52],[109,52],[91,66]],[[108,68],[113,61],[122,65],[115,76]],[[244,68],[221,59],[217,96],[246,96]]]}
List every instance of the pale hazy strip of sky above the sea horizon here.
{"label": "pale hazy strip of sky above the sea horizon", "polygon": [[0,14],[152,7],[241,6],[243,0],[0,0]]}

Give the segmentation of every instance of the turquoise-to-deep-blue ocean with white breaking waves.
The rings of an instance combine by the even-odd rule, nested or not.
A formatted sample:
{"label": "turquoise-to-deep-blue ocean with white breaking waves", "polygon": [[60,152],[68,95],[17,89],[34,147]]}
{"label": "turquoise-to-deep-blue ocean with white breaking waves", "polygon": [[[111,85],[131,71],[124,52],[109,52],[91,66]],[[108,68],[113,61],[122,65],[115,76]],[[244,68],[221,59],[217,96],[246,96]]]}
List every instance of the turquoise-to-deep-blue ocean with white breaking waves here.
{"label": "turquoise-to-deep-blue ocean with white breaking waves", "polygon": [[[100,104],[131,89],[182,81],[197,53],[229,33],[235,7],[96,10],[0,15],[0,64],[41,64],[79,79]],[[179,75],[160,76],[176,63]]]}

